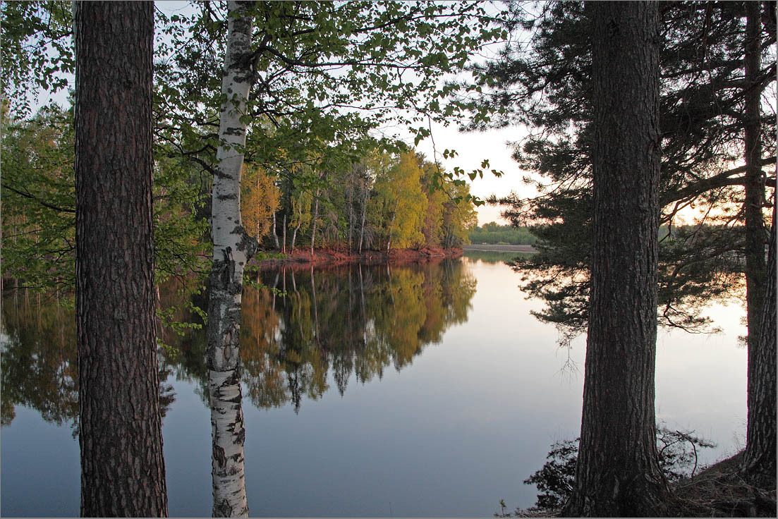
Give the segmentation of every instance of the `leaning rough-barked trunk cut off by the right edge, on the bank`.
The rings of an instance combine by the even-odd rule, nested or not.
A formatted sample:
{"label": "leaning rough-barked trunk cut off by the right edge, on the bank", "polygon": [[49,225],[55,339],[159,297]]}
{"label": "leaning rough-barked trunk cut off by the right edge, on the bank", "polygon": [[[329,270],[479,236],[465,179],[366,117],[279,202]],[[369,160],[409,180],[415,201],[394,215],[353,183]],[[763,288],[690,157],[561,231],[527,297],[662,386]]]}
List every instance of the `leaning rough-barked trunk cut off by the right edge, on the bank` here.
{"label": "leaning rough-barked trunk cut off by the right edge, on the bank", "polygon": [[[774,204],[774,202],[773,202]],[[748,426],[742,469],[756,485],[776,478],[776,209],[767,260],[765,298],[754,370],[748,370]],[[749,360],[751,360],[749,346]],[[751,380],[753,377],[753,380]]]}

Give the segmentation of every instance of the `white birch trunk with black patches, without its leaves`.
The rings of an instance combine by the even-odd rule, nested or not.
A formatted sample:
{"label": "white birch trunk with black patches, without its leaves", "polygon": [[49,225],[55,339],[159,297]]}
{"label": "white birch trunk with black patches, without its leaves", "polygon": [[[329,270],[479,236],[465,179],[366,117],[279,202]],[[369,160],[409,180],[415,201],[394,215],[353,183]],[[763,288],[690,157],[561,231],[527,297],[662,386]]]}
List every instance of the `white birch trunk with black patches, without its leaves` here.
{"label": "white birch trunk with black patches, without its leaves", "polygon": [[253,2],[229,2],[216,173],[212,190],[213,263],[209,275],[208,349],[213,432],[213,516],[247,516],[244,426],[240,409],[240,306],[247,261],[257,250],[240,221],[246,113],[251,89]]}

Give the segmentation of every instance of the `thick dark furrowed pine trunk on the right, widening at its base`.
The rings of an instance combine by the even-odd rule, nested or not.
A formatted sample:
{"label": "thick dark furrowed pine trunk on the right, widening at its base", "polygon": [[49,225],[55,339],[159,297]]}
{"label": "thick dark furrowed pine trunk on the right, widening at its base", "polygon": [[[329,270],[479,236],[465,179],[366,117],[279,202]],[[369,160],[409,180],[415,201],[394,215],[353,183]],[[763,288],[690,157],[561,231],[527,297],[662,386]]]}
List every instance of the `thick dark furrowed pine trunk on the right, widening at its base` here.
{"label": "thick dark furrowed pine trunk on the right, widening at its base", "polygon": [[580,451],[567,516],[655,516],[659,221],[656,2],[590,2],[594,221]]}

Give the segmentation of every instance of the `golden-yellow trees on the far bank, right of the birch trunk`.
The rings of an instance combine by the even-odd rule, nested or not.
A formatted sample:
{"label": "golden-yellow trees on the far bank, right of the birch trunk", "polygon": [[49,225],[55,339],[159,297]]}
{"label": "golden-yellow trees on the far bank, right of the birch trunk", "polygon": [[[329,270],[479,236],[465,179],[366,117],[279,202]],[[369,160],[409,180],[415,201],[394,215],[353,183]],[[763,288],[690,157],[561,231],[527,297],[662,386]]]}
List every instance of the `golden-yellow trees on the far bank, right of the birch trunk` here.
{"label": "golden-yellow trees on the far bank, right of the birch trunk", "polygon": [[284,254],[302,244],[357,254],[459,247],[476,221],[469,186],[443,179],[436,188],[438,174],[440,164],[413,150],[371,150],[345,168],[324,171],[315,187],[247,167],[241,216],[252,236]]}

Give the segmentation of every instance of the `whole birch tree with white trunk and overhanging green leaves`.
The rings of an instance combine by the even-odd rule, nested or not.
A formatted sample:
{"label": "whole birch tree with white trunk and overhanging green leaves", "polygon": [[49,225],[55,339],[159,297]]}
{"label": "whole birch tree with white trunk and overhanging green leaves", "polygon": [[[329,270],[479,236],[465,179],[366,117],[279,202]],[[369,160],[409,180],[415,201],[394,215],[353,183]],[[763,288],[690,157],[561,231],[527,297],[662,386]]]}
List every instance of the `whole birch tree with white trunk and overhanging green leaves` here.
{"label": "whole birch tree with white trunk and overhanging green leaves", "polygon": [[[261,20],[256,29],[255,18]],[[203,5],[194,44],[176,53],[177,67],[160,66],[165,79],[159,98],[161,106],[170,108],[164,116],[167,128],[183,135],[180,141],[187,146],[181,147],[182,155],[213,174],[206,352],[213,514],[247,515],[244,425],[236,382],[243,273],[257,243],[240,219],[244,154],[255,151],[255,162],[273,171],[313,157],[319,168],[314,175],[350,163],[353,157],[343,150],[359,148],[370,128],[391,119],[394,112],[388,107],[422,108],[442,118],[440,99],[450,89],[438,81],[451,71],[452,62],[463,67],[474,48],[500,32],[488,29],[485,12],[471,2],[228,2],[224,21],[211,4]],[[223,80],[216,93],[209,65],[219,62],[225,25]],[[408,71],[418,80],[404,80]],[[213,124],[217,104],[216,139],[187,129],[193,118]],[[198,113],[199,107],[205,113]],[[247,145],[252,120],[270,121],[273,131],[258,128]],[[338,146],[331,146],[333,142]],[[213,157],[208,155],[211,148],[216,148]]]}

